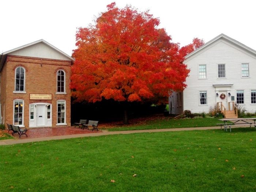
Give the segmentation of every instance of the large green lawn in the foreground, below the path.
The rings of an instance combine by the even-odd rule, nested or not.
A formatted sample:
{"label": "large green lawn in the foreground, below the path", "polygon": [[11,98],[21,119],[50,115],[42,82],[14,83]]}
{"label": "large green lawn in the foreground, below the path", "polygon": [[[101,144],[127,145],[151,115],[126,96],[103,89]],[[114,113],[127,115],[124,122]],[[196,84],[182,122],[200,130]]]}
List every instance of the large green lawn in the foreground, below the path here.
{"label": "large green lawn in the foreground, below the path", "polygon": [[0,146],[0,191],[255,191],[255,142],[234,128]]}

